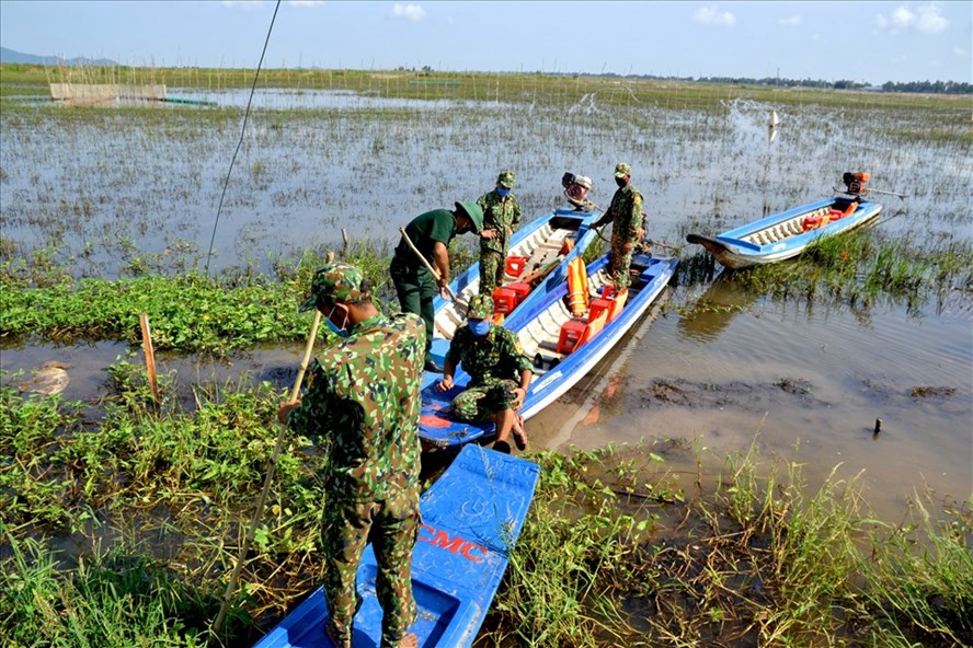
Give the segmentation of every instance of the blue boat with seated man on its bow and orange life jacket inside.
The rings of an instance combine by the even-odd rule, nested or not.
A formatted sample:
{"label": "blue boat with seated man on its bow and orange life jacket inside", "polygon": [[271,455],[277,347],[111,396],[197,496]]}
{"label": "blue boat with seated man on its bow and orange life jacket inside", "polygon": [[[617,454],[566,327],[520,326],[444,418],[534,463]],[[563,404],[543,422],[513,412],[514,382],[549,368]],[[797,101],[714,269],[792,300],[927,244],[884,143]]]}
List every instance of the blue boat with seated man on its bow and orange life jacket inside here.
{"label": "blue boat with seated man on its bow and orange life jacket inside", "polygon": [[[595,300],[599,299],[603,287],[610,286],[607,264],[606,255],[587,267],[592,298],[587,317],[572,316],[568,304],[569,285],[562,280],[557,288],[504,322],[503,325],[517,334],[524,350],[534,358],[535,378],[519,412],[525,420],[571,389],[618,344],[662,294],[678,259],[655,257],[645,252],[636,254],[631,265],[632,285],[623,308],[589,339],[568,350],[564,337],[569,334],[565,332],[585,331],[589,319],[596,315]],[[488,439],[495,433],[493,424],[465,423],[451,416],[449,404],[469,383],[469,375],[461,366],[454,382],[456,386],[446,392],[437,392],[435,384],[423,389],[419,436],[427,451]]]}

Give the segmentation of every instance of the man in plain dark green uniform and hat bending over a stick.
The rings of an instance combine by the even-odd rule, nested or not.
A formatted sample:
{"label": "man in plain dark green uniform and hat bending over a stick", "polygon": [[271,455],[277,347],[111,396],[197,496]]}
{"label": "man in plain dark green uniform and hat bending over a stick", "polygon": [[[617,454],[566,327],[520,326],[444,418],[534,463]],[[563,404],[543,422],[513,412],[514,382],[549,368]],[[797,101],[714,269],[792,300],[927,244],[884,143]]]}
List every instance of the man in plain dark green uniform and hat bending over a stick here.
{"label": "man in plain dark green uniform and hat bending over a stick", "polygon": [[430,354],[433,345],[433,298],[438,288],[443,299],[447,298],[446,287],[449,285],[449,242],[457,234],[467,232],[480,233],[483,230],[483,210],[476,202],[457,202],[456,209],[434,209],[412,219],[405,225],[405,233],[439,273],[439,281],[436,282],[426,269],[425,265],[415,256],[403,238],[396,247],[396,255],[389,266],[389,274],[396,285],[396,293],[399,297],[399,305],[405,313],[421,315],[425,322],[425,369],[426,371],[442,372]]}

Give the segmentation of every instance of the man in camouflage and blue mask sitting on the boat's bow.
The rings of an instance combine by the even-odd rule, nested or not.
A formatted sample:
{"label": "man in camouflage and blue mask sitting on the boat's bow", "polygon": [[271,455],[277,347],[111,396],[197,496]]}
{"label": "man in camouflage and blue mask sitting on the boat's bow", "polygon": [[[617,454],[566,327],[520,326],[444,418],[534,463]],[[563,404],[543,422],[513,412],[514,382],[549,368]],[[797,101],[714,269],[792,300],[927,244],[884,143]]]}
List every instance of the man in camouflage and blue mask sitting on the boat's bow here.
{"label": "man in camouflage and blue mask sitting on the boat's bow", "polygon": [[440,392],[453,389],[456,367],[461,362],[470,382],[453,400],[453,413],[460,420],[496,424],[493,449],[510,452],[511,433],[517,448],[527,449],[527,435],[517,409],[524,405],[534,366],[512,331],[491,323],[493,298],[474,294],[467,312],[469,320],[449,343]]}

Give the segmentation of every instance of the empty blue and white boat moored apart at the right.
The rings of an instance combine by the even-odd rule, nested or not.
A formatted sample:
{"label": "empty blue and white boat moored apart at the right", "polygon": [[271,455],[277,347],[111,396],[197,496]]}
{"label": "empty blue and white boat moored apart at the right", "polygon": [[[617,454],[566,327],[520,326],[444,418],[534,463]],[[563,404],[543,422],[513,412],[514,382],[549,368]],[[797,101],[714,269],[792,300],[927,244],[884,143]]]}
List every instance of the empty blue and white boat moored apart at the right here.
{"label": "empty blue and white boat moored apart at the right", "polygon": [[857,195],[810,202],[762,218],[716,238],[688,234],[728,268],[791,258],[808,245],[840,232],[874,224],[882,206]]}

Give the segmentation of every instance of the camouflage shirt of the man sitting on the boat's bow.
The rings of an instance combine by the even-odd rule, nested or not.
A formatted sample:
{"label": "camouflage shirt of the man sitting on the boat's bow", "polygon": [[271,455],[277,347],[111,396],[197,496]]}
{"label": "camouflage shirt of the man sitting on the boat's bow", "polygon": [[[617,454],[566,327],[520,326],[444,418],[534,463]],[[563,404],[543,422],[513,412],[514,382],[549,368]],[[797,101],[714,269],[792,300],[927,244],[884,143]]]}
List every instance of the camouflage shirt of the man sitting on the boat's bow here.
{"label": "camouflage shirt of the man sitting on the boat's bow", "polygon": [[493,379],[519,381],[520,372],[534,370],[517,335],[496,325],[482,337],[473,335],[469,326],[461,326],[449,343],[446,359],[462,364],[463,371],[470,374],[470,384]]}

